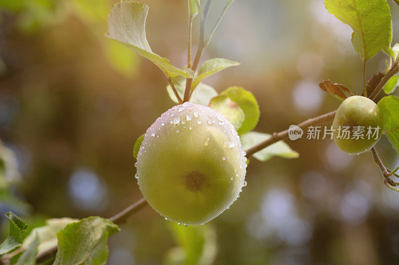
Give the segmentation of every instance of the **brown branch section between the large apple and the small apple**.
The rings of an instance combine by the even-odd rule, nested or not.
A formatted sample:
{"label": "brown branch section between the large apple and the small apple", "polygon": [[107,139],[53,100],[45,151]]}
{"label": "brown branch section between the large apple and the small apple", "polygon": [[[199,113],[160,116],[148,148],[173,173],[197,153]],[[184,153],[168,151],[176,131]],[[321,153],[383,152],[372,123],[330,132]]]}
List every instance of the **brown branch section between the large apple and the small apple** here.
{"label": "brown branch section between the large apple and the small apple", "polygon": [[[331,111],[329,113],[326,113],[326,114],[323,114],[323,115],[320,115],[320,116],[317,116],[317,117],[314,117],[314,118],[310,118],[308,120],[305,120],[305,121],[299,123],[297,126],[299,128],[301,128],[301,129],[304,129],[304,128],[307,128],[307,127],[309,127],[311,125],[316,125],[316,124],[320,124],[320,123],[332,120],[334,118],[336,112],[337,111],[334,110],[334,111]],[[257,144],[256,146],[251,147],[250,149],[248,149],[246,151],[246,156],[249,158],[254,153],[262,150],[263,148],[265,148],[265,147],[267,147],[267,146],[269,146],[271,144],[274,144],[274,143],[276,143],[276,142],[278,142],[280,140],[284,140],[285,138],[288,137],[288,133],[289,133],[288,129],[284,130],[284,131],[281,131],[281,132],[273,133],[270,138],[268,138],[265,141]]]}

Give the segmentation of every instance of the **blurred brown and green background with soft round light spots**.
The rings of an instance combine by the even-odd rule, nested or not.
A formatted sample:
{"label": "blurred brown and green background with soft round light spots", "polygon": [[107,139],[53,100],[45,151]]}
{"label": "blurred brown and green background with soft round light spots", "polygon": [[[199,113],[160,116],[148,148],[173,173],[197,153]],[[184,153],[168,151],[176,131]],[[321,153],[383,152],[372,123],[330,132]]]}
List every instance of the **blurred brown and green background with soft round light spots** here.
{"label": "blurred brown and green background with soft round light spots", "polygon": [[[155,65],[104,36],[115,2],[0,0],[0,139],[16,157],[1,215],[12,210],[32,228],[50,217],[110,217],[141,197],[133,145],[173,102]],[[187,1],[145,2],[152,49],[184,66]],[[399,7],[389,3],[395,43]],[[210,25],[223,4],[212,1]],[[202,62],[241,65],[205,83],[252,91],[256,131],[284,130],[339,106],[322,80],[361,91],[351,33],[323,0],[236,0]],[[368,77],[385,58],[367,63]],[[240,198],[204,226],[179,227],[150,207],[130,218],[110,238],[109,264],[398,264],[399,194],[371,154],[346,155],[331,140],[287,142],[300,158],[252,159]],[[378,150],[389,168],[399,164],[385,137]]]}

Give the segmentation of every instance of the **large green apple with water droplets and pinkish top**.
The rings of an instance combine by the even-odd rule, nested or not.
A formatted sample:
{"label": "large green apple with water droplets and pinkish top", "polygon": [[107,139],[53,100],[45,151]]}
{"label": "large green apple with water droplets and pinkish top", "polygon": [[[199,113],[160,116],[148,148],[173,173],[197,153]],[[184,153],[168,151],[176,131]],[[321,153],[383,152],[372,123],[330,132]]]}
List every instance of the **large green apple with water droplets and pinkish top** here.
{"label": "large green apple with water droplets and pinkish top", "polygon": [[140,189],[169,220],[203,224],[229,207],[244,185],[245,152],[215,110],[185,102],[148,128],[137,156]]}

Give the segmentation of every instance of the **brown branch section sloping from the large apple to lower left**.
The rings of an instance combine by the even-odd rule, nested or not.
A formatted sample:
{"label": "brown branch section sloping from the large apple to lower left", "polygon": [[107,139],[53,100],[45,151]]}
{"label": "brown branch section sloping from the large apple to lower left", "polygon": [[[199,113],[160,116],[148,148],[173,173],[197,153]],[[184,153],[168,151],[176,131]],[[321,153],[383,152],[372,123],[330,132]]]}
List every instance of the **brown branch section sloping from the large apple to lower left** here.
{"label": "brown branch section sloping from the large apple to lower left", "polygon": [[[123,211],[121,211],[121,212],[115,214],[114,216],[112,216],[111,218],[109,218],[109,220],[117,225],[122,224],[122,223],[126,222],[126,219],[128,217],[137,213],[138,211],[140,211],[147,205],[148,205],[148,202],[144,198],[141,198],[138,201],[136,201],[135,203],[131,204],[126,209],[124,209]],[[43,262],[53,258],[57,254],[57,249],[58,249],[58,246],[55,245],[43,252],[40,252],[36,256],[36,263],[40,264],[40,263],[43,263]]]}

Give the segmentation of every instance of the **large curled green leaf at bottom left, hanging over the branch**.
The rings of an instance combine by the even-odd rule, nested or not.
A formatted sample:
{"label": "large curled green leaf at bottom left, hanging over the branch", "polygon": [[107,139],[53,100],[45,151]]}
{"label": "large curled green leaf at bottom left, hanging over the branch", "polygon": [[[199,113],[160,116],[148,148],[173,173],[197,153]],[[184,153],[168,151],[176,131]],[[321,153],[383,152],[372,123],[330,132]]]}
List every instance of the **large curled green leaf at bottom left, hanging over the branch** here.
{"label": "large curled green leaf at bottom left, hanging over the branch", "polygon": [[101,217],[88,217],[68,224],[57,233],[58,251],[54,265],[103,265],[108,258],[108,237],[119,227]]}

